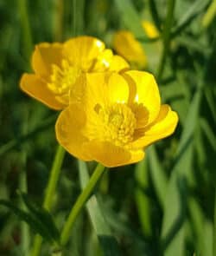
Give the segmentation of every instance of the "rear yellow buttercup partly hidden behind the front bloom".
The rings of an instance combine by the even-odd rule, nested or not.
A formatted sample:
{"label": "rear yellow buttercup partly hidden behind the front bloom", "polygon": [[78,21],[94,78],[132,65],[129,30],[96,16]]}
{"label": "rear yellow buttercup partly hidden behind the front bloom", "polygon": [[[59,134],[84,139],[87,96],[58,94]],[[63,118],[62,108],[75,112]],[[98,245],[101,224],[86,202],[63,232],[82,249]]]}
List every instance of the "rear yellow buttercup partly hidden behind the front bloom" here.
{"label": "rear yellow buttercup partly hidden behind the front bloom", "polygon": [[78,36],[66,43],[40,43],[32,56],[35,74],[24,74],[21,89],[50,108],[69,104],[74,82],[83,73],[119,71],[129,65],[105,49],[105,43],[92,36]]}

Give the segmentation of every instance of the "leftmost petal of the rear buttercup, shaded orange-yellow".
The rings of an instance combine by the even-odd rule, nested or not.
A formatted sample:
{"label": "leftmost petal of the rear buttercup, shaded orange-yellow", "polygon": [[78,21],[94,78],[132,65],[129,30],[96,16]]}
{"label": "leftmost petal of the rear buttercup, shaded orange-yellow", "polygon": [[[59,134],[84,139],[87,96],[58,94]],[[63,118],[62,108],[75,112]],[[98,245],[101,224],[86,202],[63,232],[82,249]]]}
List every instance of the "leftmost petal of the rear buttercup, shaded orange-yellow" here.
{"label": "leftmost petal of the rear buttercup, shaded orange-yellow", "polygon": [[25,93],[46,104],[49,108],[59,110],[66,107],[56,100],[54,94],[48,89],[47,84],[37,75],[22,75],[20,87]]}

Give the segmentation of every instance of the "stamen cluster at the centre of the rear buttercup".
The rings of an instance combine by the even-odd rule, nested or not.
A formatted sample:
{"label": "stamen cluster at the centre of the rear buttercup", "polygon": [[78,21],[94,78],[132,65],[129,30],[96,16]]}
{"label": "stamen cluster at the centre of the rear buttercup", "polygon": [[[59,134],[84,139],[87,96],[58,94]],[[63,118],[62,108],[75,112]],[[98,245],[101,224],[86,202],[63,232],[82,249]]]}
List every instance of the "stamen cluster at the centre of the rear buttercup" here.
{"label": "stamen cluster at the centre of the rear buttercup", "polygon": [[62,60],[61,67],[54,64],[52,69],[48,89],[56,95],[58,101],[68,105],[70,89],[81,75],[81,69],[71,66],[67,60]]}

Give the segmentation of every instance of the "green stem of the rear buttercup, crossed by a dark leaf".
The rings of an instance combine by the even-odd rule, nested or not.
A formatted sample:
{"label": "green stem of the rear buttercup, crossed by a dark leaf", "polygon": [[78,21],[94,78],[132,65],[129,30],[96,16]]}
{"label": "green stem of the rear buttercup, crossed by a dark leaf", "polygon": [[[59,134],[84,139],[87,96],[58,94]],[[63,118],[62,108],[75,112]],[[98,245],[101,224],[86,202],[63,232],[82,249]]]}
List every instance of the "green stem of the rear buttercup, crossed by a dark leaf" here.
{"label": "green stem of the rear buttercup, crossed by a dark leaf", "polygon": [[[55,191],[57,182],[59,180],[60,167],[62,165],[64,156],[65,156],[65,149],[59,145],[54,157],[54,163],[50,172],[48,187],[46,188],[45,199],[42,205],[48,211],[50,211],[53,205],[54,191]],[[42,237],[39,234],[36,234],[30,256],[41,255],[41,244],[42,244]]]}

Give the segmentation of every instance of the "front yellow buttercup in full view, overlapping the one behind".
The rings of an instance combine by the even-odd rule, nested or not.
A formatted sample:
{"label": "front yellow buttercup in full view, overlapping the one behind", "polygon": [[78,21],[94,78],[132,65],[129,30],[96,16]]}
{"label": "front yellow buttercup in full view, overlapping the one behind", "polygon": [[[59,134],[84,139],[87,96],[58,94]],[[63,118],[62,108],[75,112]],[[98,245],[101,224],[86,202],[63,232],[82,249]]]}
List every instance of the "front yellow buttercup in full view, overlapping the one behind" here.
{"label": "front yellow buttercup in full view, overlapping the one behind", "polygon": [[141,161],[143,149],[171,135],[177,122],[175,111],[161,105],[154,76],[130,70],[81,75],[55,130],[75,157],[118,167]]}

